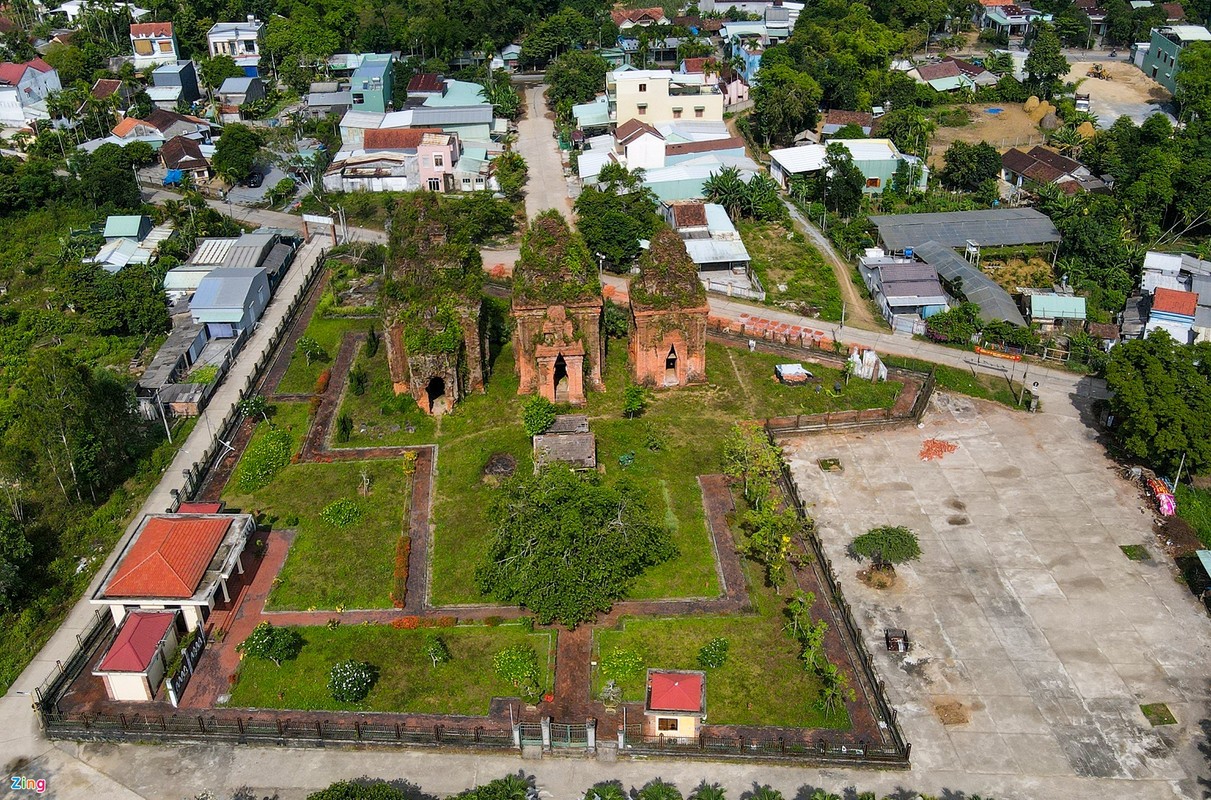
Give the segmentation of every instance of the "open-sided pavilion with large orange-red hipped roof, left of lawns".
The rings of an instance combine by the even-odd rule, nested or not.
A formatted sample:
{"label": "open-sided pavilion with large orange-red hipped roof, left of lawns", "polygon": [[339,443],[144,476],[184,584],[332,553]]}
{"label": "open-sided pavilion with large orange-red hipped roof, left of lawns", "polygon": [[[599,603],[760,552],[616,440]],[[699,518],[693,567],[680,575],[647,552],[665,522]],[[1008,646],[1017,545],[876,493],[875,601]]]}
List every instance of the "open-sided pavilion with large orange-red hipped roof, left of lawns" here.
{"label": "open-sided pavilion with large orange-red hipped roof, left of lawns", "polygon": [[241,554],[257,528],[251,514],[147,514],[91,602],[115,623],[136,610],[180,609],[194,631],[230,602],[228,581],[243,574]]}

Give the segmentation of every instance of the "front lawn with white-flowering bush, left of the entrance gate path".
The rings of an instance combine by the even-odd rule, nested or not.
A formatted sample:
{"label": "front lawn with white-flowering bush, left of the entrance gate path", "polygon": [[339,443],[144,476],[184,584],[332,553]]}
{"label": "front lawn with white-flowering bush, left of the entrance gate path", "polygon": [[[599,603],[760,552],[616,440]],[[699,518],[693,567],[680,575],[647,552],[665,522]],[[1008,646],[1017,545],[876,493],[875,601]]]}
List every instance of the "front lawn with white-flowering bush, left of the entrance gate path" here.
{"label": "front lawn with white-flowering bush, left of the entrance gate path", "polygon": [[528,633],[520,625],[436,628],[453,658],[434,667],[425,656],[429,631],[400,631],[390,626],[340,626],[299,628],[304,645],[299,657],[281,667],[271,661],[245,658],[231,691],[237,708],[298,708],[342,710],[328,693],[328,670],[346,658],[360,658],[379,669],[374,689],[356,708],[372,712],[420,714],[488,713],[493,697],[512,697],[517,691],[497,678],[492,657],[504,648],[528,643],[543,666],[540,685],[551,686],[555,632]]}

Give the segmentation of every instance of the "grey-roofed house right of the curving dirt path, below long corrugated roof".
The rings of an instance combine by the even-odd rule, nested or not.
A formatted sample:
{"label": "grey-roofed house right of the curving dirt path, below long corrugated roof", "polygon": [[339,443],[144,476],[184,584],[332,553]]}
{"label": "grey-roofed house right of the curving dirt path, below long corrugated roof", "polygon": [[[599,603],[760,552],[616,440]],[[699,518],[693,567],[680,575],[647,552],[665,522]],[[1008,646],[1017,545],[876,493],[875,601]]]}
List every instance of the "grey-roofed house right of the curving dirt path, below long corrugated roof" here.
{"label": "grey-roofed house right of the curving dirt path, below long corrugated roof", "polygon": [[911,255],[872,247],[859,259],[857,271],[896,333],[923,334],[925,320],[949,307],[937,270]]}

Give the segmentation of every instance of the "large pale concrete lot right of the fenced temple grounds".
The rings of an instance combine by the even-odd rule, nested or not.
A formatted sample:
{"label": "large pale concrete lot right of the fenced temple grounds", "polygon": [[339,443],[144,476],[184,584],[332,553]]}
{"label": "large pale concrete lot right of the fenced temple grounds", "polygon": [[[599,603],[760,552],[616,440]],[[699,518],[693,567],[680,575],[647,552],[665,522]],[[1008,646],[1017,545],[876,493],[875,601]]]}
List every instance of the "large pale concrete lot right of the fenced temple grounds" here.
{"label": "large pale concrete lot right of the fenced temple grounds", "polygon": [[[955,448],[922,460],[930,438]],[[1078,419],[943,393],[920,430],[784,444],[914,770],[978,775],[998,798],[1201,796],[1211,620]],[[888,524],[917,531],[923,556],[873,589],[845,547]],[[884,628],[901,627],[912,650],[886,652]],[[1167,703],[1177,724],[1153,727],[1141,703]]]}

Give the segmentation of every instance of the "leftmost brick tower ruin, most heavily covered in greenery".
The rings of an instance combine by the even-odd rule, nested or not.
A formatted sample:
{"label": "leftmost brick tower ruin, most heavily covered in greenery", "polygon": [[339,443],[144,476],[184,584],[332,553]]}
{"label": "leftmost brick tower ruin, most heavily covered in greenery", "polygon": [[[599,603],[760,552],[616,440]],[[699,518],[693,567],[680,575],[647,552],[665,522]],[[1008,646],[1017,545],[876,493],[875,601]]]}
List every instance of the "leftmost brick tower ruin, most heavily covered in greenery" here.
{"label": "leftmost brick tower ruin, most heavily covered in greenery", "polygon": [[437,196],[413,192],[392,218],[383,287],[388,362],[396,395],[426,414],[483,391],[488,363],[483,265],[477,249],[449,240]]}

